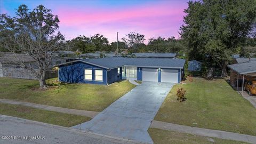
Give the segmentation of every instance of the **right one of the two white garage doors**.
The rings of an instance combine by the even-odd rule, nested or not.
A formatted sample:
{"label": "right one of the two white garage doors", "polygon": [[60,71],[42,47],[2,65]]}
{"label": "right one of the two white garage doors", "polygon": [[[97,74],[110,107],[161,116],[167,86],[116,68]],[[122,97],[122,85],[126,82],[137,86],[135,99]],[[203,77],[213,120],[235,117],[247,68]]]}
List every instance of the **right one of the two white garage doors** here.
{"label": "right one of the two white garage doors", "polygon": [[161,69],[161,82],[178,83],[178,69]]}

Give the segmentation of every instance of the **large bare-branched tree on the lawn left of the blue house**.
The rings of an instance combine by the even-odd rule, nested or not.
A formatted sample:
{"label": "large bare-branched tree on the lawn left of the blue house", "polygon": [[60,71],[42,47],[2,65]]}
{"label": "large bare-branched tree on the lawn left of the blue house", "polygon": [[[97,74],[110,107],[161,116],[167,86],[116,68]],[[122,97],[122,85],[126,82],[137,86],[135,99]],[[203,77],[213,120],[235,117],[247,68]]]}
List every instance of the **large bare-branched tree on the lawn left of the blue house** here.
{"label": "large bare-branched tree on the lawn left of the blue house", "polygon": [[43,5],[31,12],[26,5],[21,5],[17,17],[0,15],[0,41],[10,52],[24,53],[35,60],[36,66],[20,62],[35,74],[41,89],[47,88],[45,74],[51,65],[52,52],[61,50],[64,40],[57,31],[58,16],[50,12]]}

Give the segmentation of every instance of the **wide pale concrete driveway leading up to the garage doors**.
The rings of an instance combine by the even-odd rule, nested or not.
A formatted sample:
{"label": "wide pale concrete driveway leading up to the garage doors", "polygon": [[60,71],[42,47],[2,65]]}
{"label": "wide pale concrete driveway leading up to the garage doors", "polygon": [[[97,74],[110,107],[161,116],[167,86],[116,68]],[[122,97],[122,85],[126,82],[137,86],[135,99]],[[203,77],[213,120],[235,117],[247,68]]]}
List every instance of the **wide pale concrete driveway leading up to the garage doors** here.
{"label": "wide pale concrete driveway leading up to the garage doors", "polygon": [[174,83],[142,82],[76,129],[153,143],[147,130]]}

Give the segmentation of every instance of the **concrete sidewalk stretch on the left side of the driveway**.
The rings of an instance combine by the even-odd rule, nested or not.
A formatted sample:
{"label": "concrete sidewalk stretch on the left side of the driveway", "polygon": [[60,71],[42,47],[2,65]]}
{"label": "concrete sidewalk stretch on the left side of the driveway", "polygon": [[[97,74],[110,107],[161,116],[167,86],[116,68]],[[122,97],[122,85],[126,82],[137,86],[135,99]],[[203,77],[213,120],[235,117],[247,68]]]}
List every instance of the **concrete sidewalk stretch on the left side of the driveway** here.
{"label": "concrete sidewalk stretch on the left side of the driveway", "polygon": [[53,107],[53,106],[40,105],[37,103],[30,103],[30,102],[23,102],[23,101],[16,101],[16,100],[7,100],[7,99],[0,99],[0,102],[9,103],[9,104],[13,104],[13,105],[33,107],[33,108],[49,110],[49,111],[56,111],[59,113],[66,113],[66,114],[72,114],[72,115],[78,115],[78,116],[86,116],[86,117],[91,117],[91,118],[93,118],[94,116],[96,116],[100,113],[98,111],[87,111],[87,110]]}

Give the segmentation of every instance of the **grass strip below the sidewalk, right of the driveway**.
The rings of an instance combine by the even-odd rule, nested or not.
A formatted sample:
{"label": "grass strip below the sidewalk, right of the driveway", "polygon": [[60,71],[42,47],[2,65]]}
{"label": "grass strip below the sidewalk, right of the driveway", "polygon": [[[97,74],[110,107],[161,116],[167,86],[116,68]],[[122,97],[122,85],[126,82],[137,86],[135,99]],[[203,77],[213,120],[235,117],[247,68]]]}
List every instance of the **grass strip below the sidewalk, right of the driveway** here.
{"label": "grass strip below the sidewalk, right of the driveway", "polygon": [[159,130],[150,128],[148,130],[150,137],[153,139],[154,143],[175,143],[175,144],[210,144],[210,143],[225,143],[225,144],[242,144],[245,142],[233,141],[233,140],[224,140],[218,138],[209,138],[209,137],[201,137],[197,135],[180,133],[180,132],[172,132],[166,130]]}

